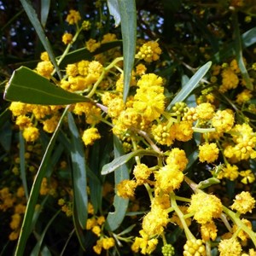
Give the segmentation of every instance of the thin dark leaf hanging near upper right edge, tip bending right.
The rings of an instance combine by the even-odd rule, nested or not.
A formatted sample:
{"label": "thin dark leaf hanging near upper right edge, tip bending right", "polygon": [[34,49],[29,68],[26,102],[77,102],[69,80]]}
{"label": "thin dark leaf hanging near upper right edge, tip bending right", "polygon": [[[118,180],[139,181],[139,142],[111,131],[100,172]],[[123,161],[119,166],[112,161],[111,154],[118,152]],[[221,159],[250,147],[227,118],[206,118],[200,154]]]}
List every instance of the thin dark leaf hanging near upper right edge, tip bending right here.
{"label": "thin dark leaf hanging near upper right edge, tip bending right", "polygon": [[233,25],[234,25],[236,61],[238,63],[238,67],[240,68],[241,76],[246,82],[247,89],[253,90],[252,80],[250,79],[249,74],[247,73],[247,68],[246,68],[243,58],[242,58],[241,35],[240,35],[240,31],[239,31],[239,23],[237,20],[237,14],[235,12],[233,13],[232,18],[233,18]]}

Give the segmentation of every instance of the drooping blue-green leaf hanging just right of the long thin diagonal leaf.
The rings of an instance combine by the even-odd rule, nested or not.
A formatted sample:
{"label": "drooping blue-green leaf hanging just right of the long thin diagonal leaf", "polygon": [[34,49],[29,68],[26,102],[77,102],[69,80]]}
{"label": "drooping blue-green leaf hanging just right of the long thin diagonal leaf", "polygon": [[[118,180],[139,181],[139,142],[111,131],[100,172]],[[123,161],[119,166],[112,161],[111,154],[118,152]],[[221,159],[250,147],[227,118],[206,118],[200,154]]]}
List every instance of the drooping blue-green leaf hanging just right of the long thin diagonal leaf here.
{"label": "drooping blue-green leaf hanging just right of the long thin diagonal leaf", "polygon": [[84,147],[79,135],[79,130],[73,119],[72,113],[68,113],[68,126],[71,132],[71,158],[73,167],[73,195],[77,212],[79,225],[85,229],[87,221],[87,180],[86,166],[84,159]]}

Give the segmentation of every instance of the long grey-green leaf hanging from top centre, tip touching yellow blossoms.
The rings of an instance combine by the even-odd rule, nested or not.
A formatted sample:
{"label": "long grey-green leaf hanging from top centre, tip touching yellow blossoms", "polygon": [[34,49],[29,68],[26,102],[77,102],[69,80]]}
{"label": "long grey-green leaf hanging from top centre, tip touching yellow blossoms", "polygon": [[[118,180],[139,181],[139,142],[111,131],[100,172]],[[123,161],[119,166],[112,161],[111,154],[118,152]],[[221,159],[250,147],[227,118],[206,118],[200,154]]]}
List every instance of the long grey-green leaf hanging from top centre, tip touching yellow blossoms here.
{"label": "long grey-green leaf hanging from top centre, tip touching yellow blossoms", "polygon": [[129,94],[131,71],[134,63],[137,37],[137,11],[135,0],[118,0],[124,54],[124,102]]}

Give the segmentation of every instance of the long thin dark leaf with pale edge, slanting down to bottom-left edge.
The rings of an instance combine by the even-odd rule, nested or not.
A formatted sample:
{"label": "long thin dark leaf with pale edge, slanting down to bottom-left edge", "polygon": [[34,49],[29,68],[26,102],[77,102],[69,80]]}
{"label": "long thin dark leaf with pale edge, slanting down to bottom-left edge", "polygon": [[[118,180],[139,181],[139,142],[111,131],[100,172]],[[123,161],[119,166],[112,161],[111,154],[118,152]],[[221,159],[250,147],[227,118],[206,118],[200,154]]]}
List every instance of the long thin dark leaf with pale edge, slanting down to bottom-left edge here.
{"label": "long thin dark leaf with pale edge, slanting down to bottom-left edge", "polygon": [[32,184],[30,196],[27,201],[26,212],[25,212],[22,226],[21,226],[20,237],[19,237],[19,240],[17,243],[17,247],[15,249],[15,256],[23,255],[25,247],[26,247],[26,241],[32,232],[32,218],[33,218],[33,214],[35,212],[35,207],[36,207],[36,204],[38,201],[38,195],[39,195],[41,183],[42,183],[43,178],[45,177],[45,173],[47,172],[49,161],[50,161],[50,156],[51,156],[53,149],[55,148],[55,140],[60,131],[61,123],[62,123],[64,117],[66,116],[67,110],[68,110],[68,107],[65,108],[65,111],[62,113],[61,119],[55,129],[55,132],[52,135],[52,137],[50,138],[48,147],[46,148],[45,153],[44,153],[43,160],[41,161],[41,164],[38,168],[37,175]]}

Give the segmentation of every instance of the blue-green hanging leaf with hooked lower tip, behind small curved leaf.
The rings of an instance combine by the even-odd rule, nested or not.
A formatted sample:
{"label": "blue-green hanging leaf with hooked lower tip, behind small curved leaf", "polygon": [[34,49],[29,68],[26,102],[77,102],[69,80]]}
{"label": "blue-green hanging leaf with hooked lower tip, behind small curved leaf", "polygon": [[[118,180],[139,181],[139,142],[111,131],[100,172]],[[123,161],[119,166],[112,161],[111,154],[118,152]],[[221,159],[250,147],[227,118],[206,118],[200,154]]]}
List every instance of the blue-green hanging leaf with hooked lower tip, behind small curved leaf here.
{"label": "blue-green hanging leaf with hooked lower tip, behind small curved leaf", "polygon": [[[118,137],[113,137],[113,150],[114,157],[118,158],[124,154],[123,145],[119,141]],[[126,165],[119,166],[114,172],[114,183],[119,184],[124,179],[129,179],[129,168]],[[124,199],[119,195],[114,195],[113,206],[114,212],[108,212],[108,218],[106,220],[108,230],[116,230],[125,218],[125,212],[127,210],[129,199]]]}

